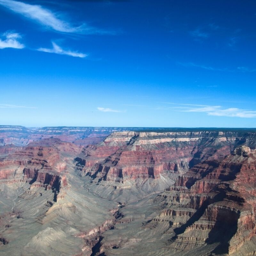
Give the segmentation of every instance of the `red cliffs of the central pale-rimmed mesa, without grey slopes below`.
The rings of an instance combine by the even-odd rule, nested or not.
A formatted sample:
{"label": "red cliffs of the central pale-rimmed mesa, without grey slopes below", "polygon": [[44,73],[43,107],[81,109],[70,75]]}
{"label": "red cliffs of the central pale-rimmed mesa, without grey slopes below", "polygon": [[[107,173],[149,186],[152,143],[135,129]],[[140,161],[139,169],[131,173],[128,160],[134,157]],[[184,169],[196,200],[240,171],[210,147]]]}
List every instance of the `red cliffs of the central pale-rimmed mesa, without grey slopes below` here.
{"label": "red cliffs of the central pale-rimmed mesa, without grey slopes below", "polygon": [[85,175],[108,181],[159,178],[165,172],[183,174],[204,159],[222,159],[235,141],[222,133],[115,132],[84,148],[76,162]]}

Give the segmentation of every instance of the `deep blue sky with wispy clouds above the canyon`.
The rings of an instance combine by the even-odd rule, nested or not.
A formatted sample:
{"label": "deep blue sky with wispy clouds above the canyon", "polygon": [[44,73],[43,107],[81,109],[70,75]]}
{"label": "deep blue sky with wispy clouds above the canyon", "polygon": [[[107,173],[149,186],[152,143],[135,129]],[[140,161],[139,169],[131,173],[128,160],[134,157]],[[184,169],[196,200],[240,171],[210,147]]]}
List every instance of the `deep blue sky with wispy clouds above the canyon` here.
{"label": "deep blue sky with wispy clouds above the canyon", "polygon": [[256,127],[255,1],[0,0],[0,124]]}

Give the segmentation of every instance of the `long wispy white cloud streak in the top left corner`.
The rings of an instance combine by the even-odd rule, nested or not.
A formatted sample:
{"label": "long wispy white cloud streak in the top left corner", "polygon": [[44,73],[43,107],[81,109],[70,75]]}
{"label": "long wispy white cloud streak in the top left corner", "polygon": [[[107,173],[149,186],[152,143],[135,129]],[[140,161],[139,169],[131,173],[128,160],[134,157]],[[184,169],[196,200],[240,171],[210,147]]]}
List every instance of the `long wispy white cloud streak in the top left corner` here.
{"label": "long wispy white cloud streak in the top left corner", "polygon": [[97,28],[89,27],[85,23],[80,26],[73,26],[70,22],[62,19],[60,15],[55,14],[51,10],[46,9],[41,5],[26,4],[14,0],[0,0],[0,5],[8,8],[13,12],[19,13],[28,19],[34,20],[47,28],[51,28],[55,31],[78,34],[112,33],[107,31],[101,31]]}

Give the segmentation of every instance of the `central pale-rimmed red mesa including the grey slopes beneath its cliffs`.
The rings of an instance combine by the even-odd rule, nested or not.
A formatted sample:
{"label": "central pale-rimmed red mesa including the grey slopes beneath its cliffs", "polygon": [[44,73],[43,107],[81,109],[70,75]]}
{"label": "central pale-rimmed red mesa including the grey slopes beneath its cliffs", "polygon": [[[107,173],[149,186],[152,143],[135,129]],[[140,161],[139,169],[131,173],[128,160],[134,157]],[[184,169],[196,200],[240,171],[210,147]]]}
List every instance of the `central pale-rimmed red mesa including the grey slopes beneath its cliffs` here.
{"label": "central pale-rimmed red mesa including the grey slopes beneath its cliffs", "polygon": [[95,193],[104,197],[101,187],[112,188],[111,198],[121,200],[116,189],[121,193],[134,187],[147,194],[163,191],[195,164],[222,159],[239,143],[253,144],[253,136],[232,132],[114,132],[101,144],[84,148],[75,160],[80,174],[99,184],[93,188]]}

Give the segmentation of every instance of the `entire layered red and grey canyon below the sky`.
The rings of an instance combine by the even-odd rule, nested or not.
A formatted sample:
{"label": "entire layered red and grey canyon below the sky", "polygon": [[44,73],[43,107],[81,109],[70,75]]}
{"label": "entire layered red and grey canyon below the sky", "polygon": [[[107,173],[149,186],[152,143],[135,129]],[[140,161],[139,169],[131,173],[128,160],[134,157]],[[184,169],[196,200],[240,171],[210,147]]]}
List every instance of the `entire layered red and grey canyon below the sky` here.
{"label": "entire layered red and grey canyon below the sky", "polygon": [[2,128],[1,255],[255,255],[255,131]]}

